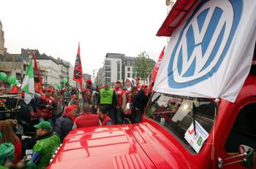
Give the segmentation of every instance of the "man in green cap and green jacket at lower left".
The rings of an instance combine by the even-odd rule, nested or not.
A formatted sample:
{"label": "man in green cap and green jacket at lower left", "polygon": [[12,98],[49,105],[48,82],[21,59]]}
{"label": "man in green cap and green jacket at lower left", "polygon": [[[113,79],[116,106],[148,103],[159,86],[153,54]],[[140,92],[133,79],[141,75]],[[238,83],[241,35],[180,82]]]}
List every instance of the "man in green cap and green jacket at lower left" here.
{"label": "man in green cap and green jacket at lower left", "polygon": [[50,122],[42,121],[38,125],[34,125],[34,127],[37,128],[39,140],[37,144],[34,144],[33,154],[29,162],[27,162],[26,168],[46,168],[53,152],[61,144],[61,140],[59,136],[52,133]]}

